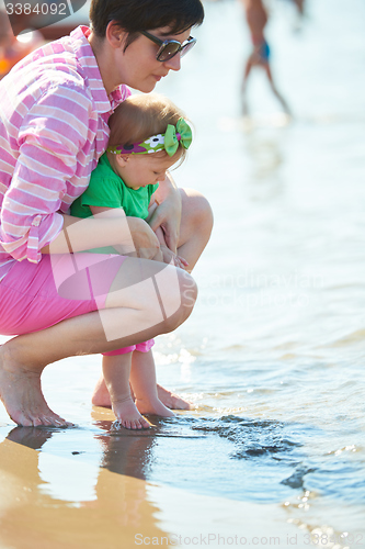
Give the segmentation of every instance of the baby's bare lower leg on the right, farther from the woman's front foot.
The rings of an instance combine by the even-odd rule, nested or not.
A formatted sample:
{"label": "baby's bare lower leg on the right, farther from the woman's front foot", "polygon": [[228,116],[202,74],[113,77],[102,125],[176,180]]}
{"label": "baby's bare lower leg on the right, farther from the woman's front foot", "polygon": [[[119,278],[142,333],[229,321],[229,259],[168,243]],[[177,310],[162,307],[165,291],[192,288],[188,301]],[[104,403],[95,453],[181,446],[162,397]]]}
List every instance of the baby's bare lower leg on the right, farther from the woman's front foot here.
{"label": "baby's bare lower leg on the right, farther from the woman's front foot", "polygon": [[156,369],[152,351],[135,350],[132,359],[130,384],[135,394],[135,403],[141,414],[172,417],[171,412],[158,397]]}

